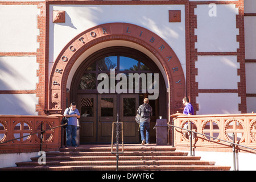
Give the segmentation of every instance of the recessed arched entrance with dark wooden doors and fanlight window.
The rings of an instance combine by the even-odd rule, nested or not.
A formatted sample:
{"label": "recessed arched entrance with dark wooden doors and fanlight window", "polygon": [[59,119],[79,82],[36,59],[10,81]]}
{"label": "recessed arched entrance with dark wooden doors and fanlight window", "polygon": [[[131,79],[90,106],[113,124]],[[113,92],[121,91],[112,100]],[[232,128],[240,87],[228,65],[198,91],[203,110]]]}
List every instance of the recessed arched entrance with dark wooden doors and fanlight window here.
{"label": "recessed arched entrance with dark wooden doors and fanlight window", "polygon": [[[108,75],[108,83],[114,79],[114,92],[109,86],[105,93],[99,93],[98,88],[102,80],[97,78],[102,74]],[[123,77],[117,80],[118,75]],[[157,80],[154,80],[155,75],[157,75]],[[141,77],[140,81],[136,76]],[[71,100],[77,102],[77,108],[81,112],[80,143],[110,142],[112,122],[116,121],[117,114],[120,121],[123,122],[124,141],[139,142],[138,125],[134,122],[134,117],[139,105],[143,104],[143,99],[156,94],[148,92],[147,89],[142,90],[142,82],[147,82],[148,76],[153,78],[150,83],[158,84],[158,88],[164,88],[155,89],[155,92],[158,92],[157,98],[150,100],[153,109],[150,140],[151,143],[155,143],[153,127],[156,118],[159,118],[159,115],[166,118],[168,113],[166,85],[155,63],[144,53],[128,47],[108,47],[87,57],[77,69],[71,84]],[[138,85],[136,85],[137,81],[139,81]],[[130,82],[133,84],[133,90],[129,87]],[[118,85],[122,92],[117,90],[119,89]],[[153,84],[153,88],[154,86]],[[159,103],[162,104],[159,105]]]}

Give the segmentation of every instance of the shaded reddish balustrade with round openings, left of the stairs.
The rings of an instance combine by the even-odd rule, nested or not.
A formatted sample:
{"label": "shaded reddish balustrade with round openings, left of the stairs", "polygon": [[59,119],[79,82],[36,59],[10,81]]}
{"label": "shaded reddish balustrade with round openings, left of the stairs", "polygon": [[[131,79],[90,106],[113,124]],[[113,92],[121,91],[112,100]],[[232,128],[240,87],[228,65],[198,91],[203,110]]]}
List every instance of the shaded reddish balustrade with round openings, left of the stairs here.
{"label": "shaded reddish balustrade with round openings, left of the stairs", "polygon": [[[61,127],[56,126],[61,125],[61,118],[61,115],[0,115],[0,154],[38,152],[42,145],[44,151],[59,150]],[[42,130],[47,130],[43,136],[40,134]],[[12,141],[6,142],[9,140]]]}

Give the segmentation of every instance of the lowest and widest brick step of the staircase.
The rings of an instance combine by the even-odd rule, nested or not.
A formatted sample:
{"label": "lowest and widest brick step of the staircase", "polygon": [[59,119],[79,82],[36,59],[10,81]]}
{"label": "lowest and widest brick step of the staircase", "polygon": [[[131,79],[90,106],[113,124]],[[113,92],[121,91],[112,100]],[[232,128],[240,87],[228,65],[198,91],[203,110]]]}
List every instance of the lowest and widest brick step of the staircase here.
{"label": "lowest and widest brick step of the staircase", "polygon": [[[137,165],[137,166],[119,166],[119,171],[228,171],[230,167],[226,166],[178,166],[178,165]],[[116,166],[29,166],[29,167],[10,167],[2,168],[2,171],[115,171]]]}

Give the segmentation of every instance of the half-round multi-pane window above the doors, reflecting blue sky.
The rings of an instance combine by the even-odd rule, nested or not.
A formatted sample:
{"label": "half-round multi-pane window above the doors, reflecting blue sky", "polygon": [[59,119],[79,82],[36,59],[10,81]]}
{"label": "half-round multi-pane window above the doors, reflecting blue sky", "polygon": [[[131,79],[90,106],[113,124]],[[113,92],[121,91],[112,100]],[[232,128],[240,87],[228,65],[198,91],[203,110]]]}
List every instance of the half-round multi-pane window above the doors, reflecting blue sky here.
{"label": "half-round multi-pane window above the doors, reflecting blue sky", "polygon": [[[111,71],[115,71],[115,75],[110,74],[110,73],[113,73]],[[104,73],[104,75],[101,75],[102,73]],[[127,78],[126,81],[128,81],[131,78],[129,76],[129,73],[131,75],[134,75],[134,73],[137,73],[137,75],[141,76],[141,78],[139,78],[139,81],[138,79],[135,80],[134,78],[131,78],[133,79],[133,86],[134,86],[133,88],[136,88],[136,90],[138,91],[144,90],[144,87],[142,88],[141,86],[141,82],[144,82],[145,86],[147,86],[146,79],[144,80],[142,79],[143,76],[152,77],[152,82],[154,82],[154,74],[150,73],[150,69],[146,65],[144,65],[141,61],[132,59],[130,57],[125,57],[125,56],[108,56],[102,59],[98,59],[97,61],[94,61],[94,63],[92,63],[88,68],[86,68],[84,75],[82,75],[81,77],[79,89],[80,90],[96,90],[98,88],[98,85],[102,90],[115,89],[115,88],[110,88],[110,86],[112,85],[110,84],[110,80],[115,80],[115,85],[117,85],[118,82],[121,82],[122,78],[121,80],[115,79],[117,74],[119,73],[123,73],[126,75],[126,78]],[[148,74],[151,74],[151,75],[148,75]],[[115,77],[112,78],[112,76],[115,76]],[[135,82],[140,84],[134,85]],[[123,82],[121,83],[125,84],[126,88],[128,88],[127,87],[128,85],[125,83],[125,80],[123,80]],[[152,89],[155,88],[154,84],[149,86]],[[121,89],[122,88],[123,88],[123,85],[121,85]]]}

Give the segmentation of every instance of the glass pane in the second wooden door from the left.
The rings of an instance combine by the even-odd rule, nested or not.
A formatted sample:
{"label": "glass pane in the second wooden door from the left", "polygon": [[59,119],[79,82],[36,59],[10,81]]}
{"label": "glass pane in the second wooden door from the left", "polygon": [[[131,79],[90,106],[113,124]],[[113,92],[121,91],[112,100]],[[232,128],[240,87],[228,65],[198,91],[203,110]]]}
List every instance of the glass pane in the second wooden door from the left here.
{"label": "glass pane in the second wooden door from the left", "polygon": [[101,98],[101,116],[114,116],[113,98]]}

